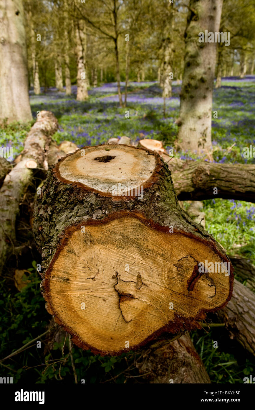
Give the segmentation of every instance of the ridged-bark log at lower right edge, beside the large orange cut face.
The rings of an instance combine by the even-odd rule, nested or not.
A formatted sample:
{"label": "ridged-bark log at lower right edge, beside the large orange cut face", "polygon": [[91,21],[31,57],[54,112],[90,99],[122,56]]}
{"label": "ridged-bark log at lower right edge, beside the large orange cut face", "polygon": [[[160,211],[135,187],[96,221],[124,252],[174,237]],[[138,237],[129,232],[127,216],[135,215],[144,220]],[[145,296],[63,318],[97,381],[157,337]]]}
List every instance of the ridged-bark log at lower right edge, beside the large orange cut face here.
{"label": "ridged-bark log at lower right edge, beside the large orange cut face", "polygon": [[219,317],[226,323],[230,338],[235,339],[255,355],[255,294],[237,280],[231,300]]}

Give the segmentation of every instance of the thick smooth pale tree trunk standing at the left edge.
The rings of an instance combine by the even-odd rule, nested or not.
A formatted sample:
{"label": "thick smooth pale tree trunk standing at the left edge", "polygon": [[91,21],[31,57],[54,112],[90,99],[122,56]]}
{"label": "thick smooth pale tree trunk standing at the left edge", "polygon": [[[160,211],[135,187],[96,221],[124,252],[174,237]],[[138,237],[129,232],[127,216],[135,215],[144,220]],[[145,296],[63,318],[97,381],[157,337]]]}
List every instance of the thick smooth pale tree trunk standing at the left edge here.
{"label": "thick smooth pale tree trunk standing at the left edge", "polygon": [[22,0],[0,0],[0,121],[31,121]]}

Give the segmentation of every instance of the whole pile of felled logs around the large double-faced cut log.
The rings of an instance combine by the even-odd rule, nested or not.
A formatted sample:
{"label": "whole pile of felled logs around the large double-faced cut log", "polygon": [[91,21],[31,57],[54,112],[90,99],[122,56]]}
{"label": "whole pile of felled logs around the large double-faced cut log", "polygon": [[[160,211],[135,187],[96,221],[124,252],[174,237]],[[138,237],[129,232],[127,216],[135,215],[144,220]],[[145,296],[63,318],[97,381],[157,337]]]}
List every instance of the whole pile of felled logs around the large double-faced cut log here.
{"label": "whole pile of felled logs around the large double-faced cut log", "polygon": [[[0,268],[15,253],[24,194],[35,193],[35,176],[43,180],[49,169],[33,223],[42,290],[77,346],[102,355],[142,349],[137,367],[149,383],[210,383],[186,330],[216,311],[230,337],[255,354],[254,267],[229,259],[178,203],[215,198],[214,187],[218,197],[255,202],[255,167],[181,161],[162,146],[120,141],[57,146],[57,128],[53,114],[41,112],[23,153],[1,161]],[[235,280],[232,298],[231,264],[230,275],[199,271],[201,262],[230,260],[250,287]]]}

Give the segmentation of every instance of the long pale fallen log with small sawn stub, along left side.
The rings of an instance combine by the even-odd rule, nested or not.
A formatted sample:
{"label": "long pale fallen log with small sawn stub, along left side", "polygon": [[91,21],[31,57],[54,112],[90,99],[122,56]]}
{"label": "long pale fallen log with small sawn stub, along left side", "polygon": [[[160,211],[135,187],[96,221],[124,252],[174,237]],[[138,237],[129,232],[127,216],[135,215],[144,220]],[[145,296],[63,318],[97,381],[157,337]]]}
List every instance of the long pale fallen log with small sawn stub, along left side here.
{"label": "long pale fallen log with small sawn stub, along left side", "polygon": [[[57,128],[54,115],[42,111],[25,139],[20,161],[5,177],[0,189],[0,272],[9,255],[15,253],[15,224],[20,203],[32,183],[34,172],[45,169],[45,153]],[[34,166],[27,167],[27,164]]]}

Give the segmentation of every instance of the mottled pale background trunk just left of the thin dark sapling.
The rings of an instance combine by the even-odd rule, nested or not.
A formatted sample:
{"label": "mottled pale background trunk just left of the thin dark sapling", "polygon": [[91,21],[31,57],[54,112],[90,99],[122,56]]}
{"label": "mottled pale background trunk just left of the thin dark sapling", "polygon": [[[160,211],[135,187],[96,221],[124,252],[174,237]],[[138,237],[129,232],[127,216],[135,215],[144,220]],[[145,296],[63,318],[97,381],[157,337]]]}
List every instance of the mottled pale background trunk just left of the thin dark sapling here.
{"label": "mottled pale background trunk just left of the thin dark sapling", "polygon": [[86,26],[83,20],[79,20],[75,29],[76,33],[76,57],[77,57],[77,100],[88,99],[88,83],[86,71]]}

